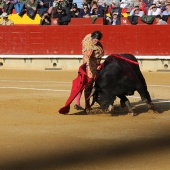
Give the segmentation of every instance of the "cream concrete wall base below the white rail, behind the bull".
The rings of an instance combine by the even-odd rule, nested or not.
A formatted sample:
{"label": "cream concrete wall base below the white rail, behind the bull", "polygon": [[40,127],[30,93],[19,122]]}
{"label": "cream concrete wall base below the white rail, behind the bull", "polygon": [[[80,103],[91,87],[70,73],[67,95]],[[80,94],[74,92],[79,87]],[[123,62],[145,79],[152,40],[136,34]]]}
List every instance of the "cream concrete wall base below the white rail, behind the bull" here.
{"label": "cream concrete wall base below the white rail, behind the bull", "polygon": [[[102,60],[104,61],[104,59]],[[170,59],[138,58],[142,71],[170,70]],[[82,59],[77,58],[1,58],[0,69],[77,70]]]}

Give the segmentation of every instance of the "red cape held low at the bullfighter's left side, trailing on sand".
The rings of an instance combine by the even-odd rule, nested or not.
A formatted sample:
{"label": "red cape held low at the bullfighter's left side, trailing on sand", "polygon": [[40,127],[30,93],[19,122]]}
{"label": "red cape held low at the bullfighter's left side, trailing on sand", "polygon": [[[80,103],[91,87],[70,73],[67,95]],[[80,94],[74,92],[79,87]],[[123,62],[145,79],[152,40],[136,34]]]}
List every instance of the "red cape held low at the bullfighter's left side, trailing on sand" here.
{"label": "red cape held low at the bullfighter's left side, trailing on sand", "polygon": [[72,82],[72,89],[69,98],[67,99],[65,106],[58,112],[61,114],[67,114],[70,111],[70,104],[76,98],[79,92],[81,92],[86,84],[89,82],[89,78],[86,74],[86,64],[82,64],[78,70],[78,76]]}

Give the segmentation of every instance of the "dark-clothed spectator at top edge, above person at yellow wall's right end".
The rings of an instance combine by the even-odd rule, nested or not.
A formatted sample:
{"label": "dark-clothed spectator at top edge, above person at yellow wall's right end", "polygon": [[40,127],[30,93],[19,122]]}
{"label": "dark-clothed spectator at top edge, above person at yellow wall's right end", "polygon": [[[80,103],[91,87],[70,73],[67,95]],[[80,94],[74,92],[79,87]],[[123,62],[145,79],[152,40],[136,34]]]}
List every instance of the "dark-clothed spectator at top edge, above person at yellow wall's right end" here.
{"label": "dark-clothed spectator at top edge, above person at yellow wall's right end", "polygon": [[39,0],[37,10],[40,17],[42,17],[43,13],[46,12],[51,6],[51,0]]}

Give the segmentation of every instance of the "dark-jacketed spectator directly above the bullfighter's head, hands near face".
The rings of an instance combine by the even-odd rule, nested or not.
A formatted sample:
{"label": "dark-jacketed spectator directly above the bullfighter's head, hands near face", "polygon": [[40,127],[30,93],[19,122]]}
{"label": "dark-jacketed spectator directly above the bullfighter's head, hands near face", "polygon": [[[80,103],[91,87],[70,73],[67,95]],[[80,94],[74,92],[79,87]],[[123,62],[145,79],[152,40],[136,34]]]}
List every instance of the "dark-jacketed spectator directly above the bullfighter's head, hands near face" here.
{"label": "dark-jacketed spectator directly above the bullfighter's head, hands near face", "polygon": [[90,10],[90,16],[91,18],[104,16],[104,11],[102,10],[102,8],[99,8],[96,2],[92,4],[91,10]]}

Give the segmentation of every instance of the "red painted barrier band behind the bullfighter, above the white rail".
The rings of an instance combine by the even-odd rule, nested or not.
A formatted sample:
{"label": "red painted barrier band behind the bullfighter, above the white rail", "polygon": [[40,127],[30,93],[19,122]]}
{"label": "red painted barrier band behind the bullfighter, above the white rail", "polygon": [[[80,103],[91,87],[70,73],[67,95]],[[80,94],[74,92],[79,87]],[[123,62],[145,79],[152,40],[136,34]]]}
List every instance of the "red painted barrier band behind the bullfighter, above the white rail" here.
{"label": "red painted barrier band behind the bullfighter, above the white rail", "polygon": [[0,54],[80,55],[84,36],[103,33],[105,55],[170,55],[169,25],[1,26]]}

